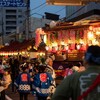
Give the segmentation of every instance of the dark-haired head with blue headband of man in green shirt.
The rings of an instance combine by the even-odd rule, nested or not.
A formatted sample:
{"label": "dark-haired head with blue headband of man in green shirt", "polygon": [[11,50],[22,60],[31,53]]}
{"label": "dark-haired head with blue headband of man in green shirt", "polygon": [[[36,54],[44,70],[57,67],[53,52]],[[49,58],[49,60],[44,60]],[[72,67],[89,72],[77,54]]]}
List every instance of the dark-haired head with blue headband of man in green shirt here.
{"label": "dark-haired head with blue headband of man in green shirt", "polygon": [[84,56],[84,64],[100,65],[100,46],[92,45],[87,48]]}

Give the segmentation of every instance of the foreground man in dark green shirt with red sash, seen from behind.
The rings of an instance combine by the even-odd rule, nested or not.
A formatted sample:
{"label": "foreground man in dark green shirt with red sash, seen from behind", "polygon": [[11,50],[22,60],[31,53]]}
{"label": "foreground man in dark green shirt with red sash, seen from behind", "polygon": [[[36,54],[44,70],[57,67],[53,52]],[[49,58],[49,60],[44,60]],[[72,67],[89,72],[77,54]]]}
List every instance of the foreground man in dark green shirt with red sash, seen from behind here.
{"label": "foreground man in dark green shirt with red sash, seen from behind", "polygon": [[51,100],[100,100],[100,46],[87,48],[83,64],[86,70],[66,77]]}

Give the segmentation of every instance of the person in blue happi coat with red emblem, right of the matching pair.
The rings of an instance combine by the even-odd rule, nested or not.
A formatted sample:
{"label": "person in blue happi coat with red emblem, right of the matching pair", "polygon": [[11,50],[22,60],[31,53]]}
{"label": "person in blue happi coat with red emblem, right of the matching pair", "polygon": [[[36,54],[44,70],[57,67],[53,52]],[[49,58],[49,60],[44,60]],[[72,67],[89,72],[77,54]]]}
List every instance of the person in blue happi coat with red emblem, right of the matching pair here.
{"label": "person in blue happi coat with red emblem, right of the matching pair", "polygon": [[49,73],[45,72],[45,65],[39,65],[38,68],[38,73],[34,75],[33,79],[33,89],[36,90],[38,100],[47,100],[53,78]]}

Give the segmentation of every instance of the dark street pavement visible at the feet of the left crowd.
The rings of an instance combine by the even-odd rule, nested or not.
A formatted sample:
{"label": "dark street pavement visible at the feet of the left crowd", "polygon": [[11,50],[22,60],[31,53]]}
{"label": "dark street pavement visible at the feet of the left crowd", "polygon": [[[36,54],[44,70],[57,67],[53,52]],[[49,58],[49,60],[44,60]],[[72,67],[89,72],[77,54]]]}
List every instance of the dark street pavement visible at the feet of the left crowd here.
{"label": "dark street pavement visible at the feet of the left crowd", "polygon": [[[12,92],[11,86],[5,91],[6,100],[19,100],[19,94],[17,91]],[[30,93],[28,100],[34,100],[34,96]]]}

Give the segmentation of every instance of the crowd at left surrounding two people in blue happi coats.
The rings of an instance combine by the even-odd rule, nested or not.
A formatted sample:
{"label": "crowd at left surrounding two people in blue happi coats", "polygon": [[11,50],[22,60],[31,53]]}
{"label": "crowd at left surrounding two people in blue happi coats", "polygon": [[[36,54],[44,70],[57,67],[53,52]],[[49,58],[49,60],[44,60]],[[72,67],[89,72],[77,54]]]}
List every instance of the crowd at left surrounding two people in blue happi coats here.
{"label": "crowd at left surrounding two people in blue happi coats", "polygon": [[19,93],[20,100],[28,100],[28,94],[32,93],[36,100],[46,100],[53,93],[55,72],[52,68],[53,61],[47,59],[35,59],[34,62],[27,59],[20,62],[17,57],[1,60],[0,62],[0,86],[4,87],[0,100],[5,100],[5,90],[12,87],[12,92]]}

